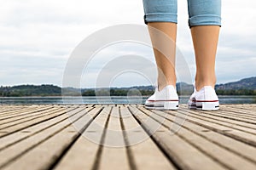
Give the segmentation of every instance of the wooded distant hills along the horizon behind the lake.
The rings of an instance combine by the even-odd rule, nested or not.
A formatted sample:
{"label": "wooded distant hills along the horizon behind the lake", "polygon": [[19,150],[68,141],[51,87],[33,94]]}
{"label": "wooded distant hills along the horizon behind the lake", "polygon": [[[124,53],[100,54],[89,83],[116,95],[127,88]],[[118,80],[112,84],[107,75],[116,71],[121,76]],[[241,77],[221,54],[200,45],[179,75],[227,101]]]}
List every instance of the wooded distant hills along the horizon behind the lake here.
{"label": "wooded distant hills along the horizon behind the lake", "polygon": [[[244,78],[237,82],[228,82],[216,85],[216,92],[218,95],[256,95],[256,77]],[[95,95],[111,95],[111,96],[126,96],[150,95],[154,93],[152,86],[134,86],[131,88],[60,88],[54,85],[20,85],[13,87],[0,87],[0,97],[22,97],[22,96],[61,96],[63,92],[66,96],[84,96]],[[189,95],[193,92],[193,85],[178,82],[177,93],[181,95]]]}

